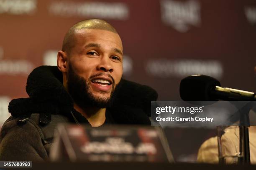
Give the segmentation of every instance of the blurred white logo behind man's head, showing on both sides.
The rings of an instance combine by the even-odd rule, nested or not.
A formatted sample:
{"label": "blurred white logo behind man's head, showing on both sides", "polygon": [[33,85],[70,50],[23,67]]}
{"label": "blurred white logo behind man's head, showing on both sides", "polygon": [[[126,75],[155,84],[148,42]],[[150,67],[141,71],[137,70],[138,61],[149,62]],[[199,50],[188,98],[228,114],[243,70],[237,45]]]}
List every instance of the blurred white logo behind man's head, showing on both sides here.
{"label": "blurred white logo behind man's head, showing on both sides", "polygon": [[[57,65],[57,54],[58,50],[48,50],[44,53],[43,64],[44,65]],[[129,76],[133,71],[133,60],[131,57],[125,55],[123,57],[123,75]]]}

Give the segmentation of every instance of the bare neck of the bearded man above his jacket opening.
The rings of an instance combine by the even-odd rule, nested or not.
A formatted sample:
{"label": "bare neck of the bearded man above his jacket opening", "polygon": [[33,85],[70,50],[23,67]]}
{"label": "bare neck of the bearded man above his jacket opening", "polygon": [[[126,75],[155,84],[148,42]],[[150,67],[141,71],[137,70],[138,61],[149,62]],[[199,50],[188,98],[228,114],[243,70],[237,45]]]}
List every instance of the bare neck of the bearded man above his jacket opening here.
{"label": "bare neck of the bearded man above his jacket opening", "polygon": [[98,127],[104,124],[106,117],[106,108],[87,107],[81,108],[74,103],[74,109],[80,112],[92,125],[92,127]]}

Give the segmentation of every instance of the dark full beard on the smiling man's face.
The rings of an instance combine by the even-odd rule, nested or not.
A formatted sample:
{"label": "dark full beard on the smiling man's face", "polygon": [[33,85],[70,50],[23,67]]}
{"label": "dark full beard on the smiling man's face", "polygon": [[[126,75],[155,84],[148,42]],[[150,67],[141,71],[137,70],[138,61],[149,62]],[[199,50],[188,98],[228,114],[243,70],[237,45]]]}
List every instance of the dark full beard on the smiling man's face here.
{"label": "dark full beard on the smiling man's face", "polygon": [[[83,77],[77,75],[72,66],[69,65],[69,70],[67,72],[67,90],[72,96],[74,102],[82,109],[88,107],[106,108],[112,105],[114,96],[118,91],[117,89],[119,89],[119,85],[115,85],[115,81],[112,76],[109,75],[113,80],[110,97],[97,97],[93,95],[90,90],[92,78],[100,75],[103,75],[103,73],[92,75],[88,80],[85,80]],[[100,94],[105,93],[106,92],[100,92]]]}

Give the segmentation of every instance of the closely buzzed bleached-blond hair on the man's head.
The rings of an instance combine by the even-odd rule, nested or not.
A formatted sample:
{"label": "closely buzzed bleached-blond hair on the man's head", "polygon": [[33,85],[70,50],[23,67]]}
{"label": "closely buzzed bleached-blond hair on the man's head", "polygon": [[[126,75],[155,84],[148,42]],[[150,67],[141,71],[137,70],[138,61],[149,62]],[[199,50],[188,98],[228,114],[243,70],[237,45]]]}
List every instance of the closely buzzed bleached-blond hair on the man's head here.
{"label": "closely buzzed bleached-blond hair on the man's head", "polygon": [[62,51],[69,53],[72,47],[74,47],[76,39],[75,34],[78,30],[95,29],[95,30],[107,30],[117,33],[115,28],[104,20],[92,19],[84,20],[73,25],[64,37],[62,44]]}

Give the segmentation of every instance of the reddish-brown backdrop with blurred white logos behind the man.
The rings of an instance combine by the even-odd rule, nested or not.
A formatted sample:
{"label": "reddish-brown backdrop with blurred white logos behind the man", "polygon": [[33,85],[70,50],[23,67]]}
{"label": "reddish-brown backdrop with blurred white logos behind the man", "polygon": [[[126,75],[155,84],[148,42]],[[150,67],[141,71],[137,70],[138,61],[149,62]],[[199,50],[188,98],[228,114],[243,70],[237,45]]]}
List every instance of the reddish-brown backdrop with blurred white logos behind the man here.
{"label": "reddish-brown backdrop with blurred white logos behind the man", "polygon": [[100,18],[123,40],[124,77],[180,100],[192,74],[256,91],[255,0],[0,0],[0,127],[33,68],[56,65],[67,30]]}

